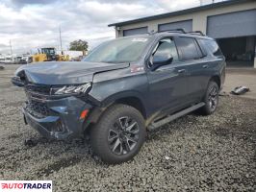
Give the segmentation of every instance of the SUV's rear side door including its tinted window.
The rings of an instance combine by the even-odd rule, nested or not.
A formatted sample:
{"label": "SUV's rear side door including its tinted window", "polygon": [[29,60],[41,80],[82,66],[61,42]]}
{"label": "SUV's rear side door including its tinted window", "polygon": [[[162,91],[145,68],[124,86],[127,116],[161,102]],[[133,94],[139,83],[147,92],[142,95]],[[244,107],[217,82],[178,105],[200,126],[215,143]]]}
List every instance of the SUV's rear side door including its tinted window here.
{"label": "SUV's rear side door including its tinted window", "polygon": [[180,58],[187,66],[187,100],[192,104],[200,101],[204,94],[204,86],[207,84],[207,60],[204,60],[204,55],[195,38],[189,36],[178,36],[175,38],[175,42],[178,47]]}

